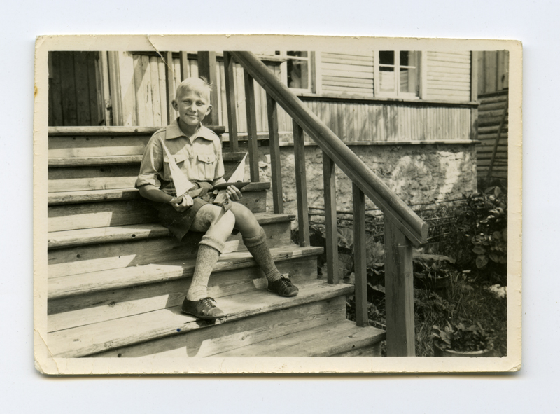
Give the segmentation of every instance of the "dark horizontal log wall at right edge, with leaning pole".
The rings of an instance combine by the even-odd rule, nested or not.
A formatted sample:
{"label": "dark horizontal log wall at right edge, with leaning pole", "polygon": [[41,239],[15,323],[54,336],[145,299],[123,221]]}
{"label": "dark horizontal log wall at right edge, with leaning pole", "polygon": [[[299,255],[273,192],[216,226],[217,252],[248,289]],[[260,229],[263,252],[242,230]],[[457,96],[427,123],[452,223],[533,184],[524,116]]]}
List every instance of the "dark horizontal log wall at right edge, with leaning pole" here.
{"label": "dark horizontal log wall at right edge, with leaning pole", "polygon": [[[507,104],[507,90],[479,95],[479,101],[478,139],[481,143],[477,145],[477,176],[479,179],[486,179],[498,137],[498,127]],[[500,134],[491,178],[507,179],[507,116]]]}

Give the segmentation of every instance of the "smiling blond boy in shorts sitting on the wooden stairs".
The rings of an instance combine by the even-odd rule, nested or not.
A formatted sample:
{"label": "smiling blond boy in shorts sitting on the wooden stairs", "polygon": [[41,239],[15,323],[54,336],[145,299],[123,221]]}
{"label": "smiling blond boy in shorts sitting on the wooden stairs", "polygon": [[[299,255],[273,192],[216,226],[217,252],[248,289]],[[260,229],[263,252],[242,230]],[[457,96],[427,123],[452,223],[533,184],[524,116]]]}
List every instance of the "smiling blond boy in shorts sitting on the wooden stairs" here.
{"label": "smiling blond boy in shorts sitting on the wooden stairs", "polygon": [[[265,230],[251,210],[236,201],[241,191],[228,186],[223,205],[213,204],[211,188],[225,183],[222,148],[214,132],[202,125],[210,113],[211,85],[202,78],[187,78],[179,84],[172,102],[179,118],[151,137],[144,151],[136,187],[151,200],[162,224],[181,240],[191,231],[205,233],[199,243],[193,281],[183,312],[200,319],[216,319],[225,314],[207,294],[214,265],[223,253],[225,241],[238,230],[243,242],[265,273],[268,290],[280,296],[295,296],[298,289],[280,274],[272,261]],[[174,158],[169,162],[169,158]],[[195,189],[177,197],[172,168],[179,167]],[[156,187],[156,179],[161,183]]]}

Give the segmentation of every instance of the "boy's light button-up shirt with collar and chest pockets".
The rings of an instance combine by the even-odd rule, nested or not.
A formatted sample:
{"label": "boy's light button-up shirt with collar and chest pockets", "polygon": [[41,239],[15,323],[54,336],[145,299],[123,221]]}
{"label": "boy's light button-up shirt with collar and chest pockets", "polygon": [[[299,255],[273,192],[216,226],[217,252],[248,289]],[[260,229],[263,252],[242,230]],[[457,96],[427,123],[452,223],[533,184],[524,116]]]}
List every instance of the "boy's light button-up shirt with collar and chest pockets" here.
{"label": "boy's light button-up shirt with collar and chest pockets", "polygon": [[169,159],[162,148],[163,145],[191,182],[213,183],[223,177],[222,146],[218,136],[204,125],[200,125],[197,134],[188,138],[181,131],[176,119],[167,127],[155,132],[146,145],[136,181],[137,188],[148,184],[157,187],[158,180],[160,190],[169,195],[176,195]]}

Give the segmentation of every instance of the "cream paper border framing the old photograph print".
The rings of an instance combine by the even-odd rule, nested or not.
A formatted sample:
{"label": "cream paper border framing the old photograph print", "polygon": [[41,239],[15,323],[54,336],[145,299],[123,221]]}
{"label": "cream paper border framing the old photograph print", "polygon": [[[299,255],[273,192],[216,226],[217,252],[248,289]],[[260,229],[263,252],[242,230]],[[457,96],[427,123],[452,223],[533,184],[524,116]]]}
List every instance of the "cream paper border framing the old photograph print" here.
{"label": "cream paper border framing the old photograph print", "polygon": [[[50,354],[47,316],[48,52],[52,50],[508,50],[507,357],[356,358],[55,358]],[[293,48],[293,47],[292,47]],[[83,35],[41,36],[36,41],[34,98],[34,353],[36,368],[51,375],[171,373],[483,373],[518,371],[521,366],[521,90],[519,41],[282,35]]]}

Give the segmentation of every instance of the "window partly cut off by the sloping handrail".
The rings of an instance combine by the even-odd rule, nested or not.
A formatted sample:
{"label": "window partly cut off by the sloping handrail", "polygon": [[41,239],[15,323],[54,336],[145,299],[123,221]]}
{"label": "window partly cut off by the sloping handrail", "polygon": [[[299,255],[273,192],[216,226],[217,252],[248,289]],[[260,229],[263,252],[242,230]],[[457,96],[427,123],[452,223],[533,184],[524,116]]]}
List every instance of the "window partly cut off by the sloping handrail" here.
{"label": "window partly cut off by the sloping handrail", "polygon": [[290,50],[287,52],[276,52],[276,55],[285,59],[285,62],[281,64],[281,71],[286,85],[294,89],[295,92],[313,92],[313,53],[302,50]]}

